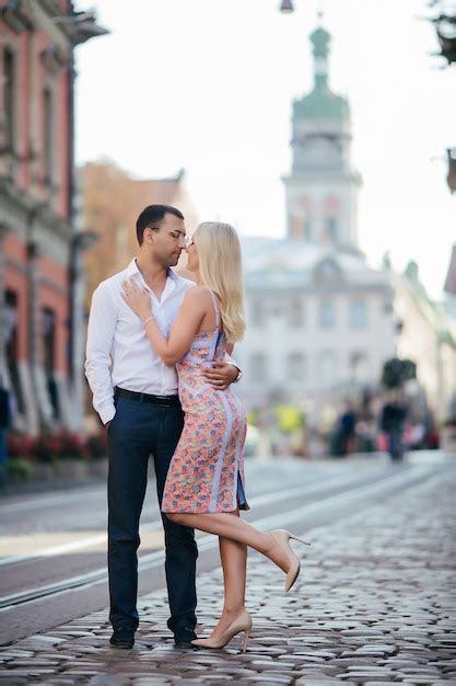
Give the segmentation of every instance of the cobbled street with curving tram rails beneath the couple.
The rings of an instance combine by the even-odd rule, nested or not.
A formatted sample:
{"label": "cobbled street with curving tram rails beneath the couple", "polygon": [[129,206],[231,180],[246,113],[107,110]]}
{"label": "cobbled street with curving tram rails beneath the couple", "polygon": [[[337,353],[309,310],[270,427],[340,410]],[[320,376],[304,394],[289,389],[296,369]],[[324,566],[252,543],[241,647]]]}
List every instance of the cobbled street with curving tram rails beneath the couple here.
{"label": "cobbled street with curving tram rails beneath the couple", "polygon": [[[249,556],[246,655],[237,638],[222,651],[173,649],[153,480],[132,651],[107,643],[104,488],[4,499],[0,683],[456,683],[455,465],[441,453],[401,465],[379,455],[247,460],[248,519],[291,528],[312,547],[300,550],[303,571],[287,596],[278,570]],[[204,634],[220,611],[221,573],[215,538],[198,539]]]}

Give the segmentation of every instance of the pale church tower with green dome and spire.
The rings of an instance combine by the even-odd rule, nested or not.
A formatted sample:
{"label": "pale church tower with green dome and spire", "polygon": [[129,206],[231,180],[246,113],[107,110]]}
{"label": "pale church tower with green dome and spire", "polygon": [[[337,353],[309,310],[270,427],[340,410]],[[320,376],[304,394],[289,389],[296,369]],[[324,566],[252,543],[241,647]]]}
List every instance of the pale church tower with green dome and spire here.
{"label": "pale church tower with green dome and spire", "polygon": [[288,237],[359,252],[361,176],[351,165],[349,103],[328,84],[330,41],[321,26],[311,35],[314,88],[293,103],[293,164],[284,179]]}

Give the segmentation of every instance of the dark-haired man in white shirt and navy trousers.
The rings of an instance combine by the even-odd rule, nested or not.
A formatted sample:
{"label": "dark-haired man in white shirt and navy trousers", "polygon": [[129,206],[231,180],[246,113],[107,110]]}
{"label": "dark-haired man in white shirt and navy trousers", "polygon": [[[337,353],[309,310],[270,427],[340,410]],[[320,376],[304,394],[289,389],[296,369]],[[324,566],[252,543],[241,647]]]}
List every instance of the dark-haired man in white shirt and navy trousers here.
{"label": "dark-haired man in white shirt and navy trousers", "polygon": [[[169,267],[186,245],[183,214],[167,205],[150,205],[137,221],[138,256],[128,267],[102,282],[93,294],[89,320],[85,374],[93,405],[107,428],[108,570],[112,645],[131,648],[137,610],[139,519],[145,494],[148,460],[155,466],[159,502],[171,458],[184,423],[177,396],[177,374],[152,348],[141,320],[124,302],[121,284],[135,277],[150,290],[152,311],[166,335],[188,288],[194,284]],[[152,313],[151,311],[151,313]],[[232,364],[206,371],[219,389],[235,381]],[[168,628],[177,648],[194,648],[196,638],[195,573],[198,550],[194,531],[162,515],[165,571],[171,617]]]}

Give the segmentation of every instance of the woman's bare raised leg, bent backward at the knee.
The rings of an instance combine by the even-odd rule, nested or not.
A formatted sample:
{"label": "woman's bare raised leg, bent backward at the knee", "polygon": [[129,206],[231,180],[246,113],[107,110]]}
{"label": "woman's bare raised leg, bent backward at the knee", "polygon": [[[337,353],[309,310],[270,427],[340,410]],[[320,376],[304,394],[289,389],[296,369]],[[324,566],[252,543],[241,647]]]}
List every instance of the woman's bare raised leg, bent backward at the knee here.
{"label": "woman's bare raised leg, bent backward at the knee", "polygon": [[200,531],[215,534],[221,538],[230,538],[244,546],[255,548],[255,550],[258,550],[258,552],[261,552],[280,567],[283,572],[288,572],[290,559],[285,550],[277,545],[276,539],[270,534],[259,531],[231,512],[207,514],[166,513],[166,516],[183,526],[190,526]]}

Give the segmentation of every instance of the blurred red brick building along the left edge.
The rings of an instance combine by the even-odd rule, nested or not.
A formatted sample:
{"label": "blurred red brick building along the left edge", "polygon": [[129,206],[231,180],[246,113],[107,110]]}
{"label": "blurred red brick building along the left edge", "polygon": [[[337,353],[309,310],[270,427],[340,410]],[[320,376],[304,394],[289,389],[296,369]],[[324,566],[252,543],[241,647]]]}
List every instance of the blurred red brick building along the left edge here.
{"label": "blurred red brick building along the left edge", "polygon": [[103,33],[68,0],[0,0],[0,370],[31,434],[81,427],[73,50]]}

